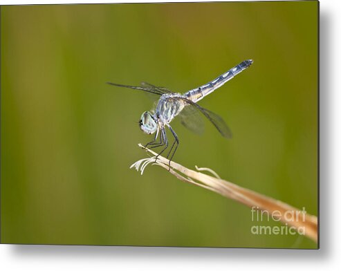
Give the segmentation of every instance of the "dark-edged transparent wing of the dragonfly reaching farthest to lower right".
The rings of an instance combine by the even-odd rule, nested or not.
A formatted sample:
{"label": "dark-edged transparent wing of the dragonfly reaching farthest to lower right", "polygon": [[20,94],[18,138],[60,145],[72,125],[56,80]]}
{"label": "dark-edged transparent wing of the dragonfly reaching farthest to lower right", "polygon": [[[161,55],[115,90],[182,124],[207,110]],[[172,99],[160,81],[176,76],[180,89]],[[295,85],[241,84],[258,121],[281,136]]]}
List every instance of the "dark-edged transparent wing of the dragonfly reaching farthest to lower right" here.
{"label": "dark-edged transparent wing of the dragonfly reaching farthest to lower right", "polygon": [[203,115],[205,115],[205,117],[208,118],[210,122],[212,122],[214,127],[216,127],[219,133],[221,133],[221,136],[223,136],[224,138],[232,138],[232,133],[231,133],[230,128],[228,128],[228,125],[225,123],[225,121],[223,120],[223,118],[221,118],[220,115],[216,115],[216,113],[213,113],[212,111],[208,109],[204,109],[203,107],[199,106],[199,104],[196,104],[195,102],[192,102],[191,100],[188,100],[185,97],[181,97],[180,99],[186,102],[188,104],[188,107],[190,106],[194,109],[197,109]]}

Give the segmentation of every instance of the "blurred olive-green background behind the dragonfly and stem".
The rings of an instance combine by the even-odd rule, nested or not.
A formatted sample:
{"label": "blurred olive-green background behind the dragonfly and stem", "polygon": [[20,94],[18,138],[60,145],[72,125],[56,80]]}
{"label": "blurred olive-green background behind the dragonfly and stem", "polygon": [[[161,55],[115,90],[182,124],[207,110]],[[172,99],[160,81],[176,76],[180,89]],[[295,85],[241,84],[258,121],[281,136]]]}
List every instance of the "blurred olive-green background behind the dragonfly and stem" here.
{"label": "blurred olive-green background behind the dragonfly and stem", "polygon": [[253,235],[248,207],[129,166],[147,95],[187,91],[255,63],[200,104],[197,136],[174,122],[174,157],[317,215],[317,1],[1,7],[1,241],[89,245],[304,247]]}

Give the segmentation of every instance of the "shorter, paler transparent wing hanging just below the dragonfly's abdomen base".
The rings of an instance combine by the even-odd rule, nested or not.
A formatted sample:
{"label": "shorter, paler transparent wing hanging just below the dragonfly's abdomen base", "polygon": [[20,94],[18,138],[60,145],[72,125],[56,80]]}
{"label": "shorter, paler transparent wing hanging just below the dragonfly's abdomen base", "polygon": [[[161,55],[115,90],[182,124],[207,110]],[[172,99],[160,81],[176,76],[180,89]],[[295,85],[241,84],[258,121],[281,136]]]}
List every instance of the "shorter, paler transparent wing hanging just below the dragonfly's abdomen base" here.
{"label": "shorter, paler transparent wing hanging just below the dragonfly's abdomen base", "polygon": [[201,135],[205,130],[205,123],[201,113],[194,106],[185,106],[177,118],[184,127],[194,133]]}

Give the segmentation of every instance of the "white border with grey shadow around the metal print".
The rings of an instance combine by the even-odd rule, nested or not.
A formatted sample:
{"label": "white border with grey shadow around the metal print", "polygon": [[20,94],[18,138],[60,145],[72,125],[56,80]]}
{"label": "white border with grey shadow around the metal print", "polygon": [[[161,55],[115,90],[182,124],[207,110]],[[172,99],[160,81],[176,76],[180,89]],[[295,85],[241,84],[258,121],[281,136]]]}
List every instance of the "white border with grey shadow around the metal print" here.
{"label": "white border with grey shadow around the metal print", "polygon": [[[1,5],[113,2],[117,1],[0,0]],[[340,6],[340,0],[320,1],[320,250],[0,245],[2,270],[338,270],[341,266]]]}

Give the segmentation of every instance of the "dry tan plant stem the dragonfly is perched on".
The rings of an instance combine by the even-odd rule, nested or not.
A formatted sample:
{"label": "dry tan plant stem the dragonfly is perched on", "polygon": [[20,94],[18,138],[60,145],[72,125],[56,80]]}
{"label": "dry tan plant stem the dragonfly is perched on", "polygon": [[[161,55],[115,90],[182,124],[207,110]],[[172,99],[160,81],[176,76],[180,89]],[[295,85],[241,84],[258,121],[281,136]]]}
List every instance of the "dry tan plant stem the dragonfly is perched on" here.
{"label": "dry tan plant stem the dragonfly is perched on", "polygon": [[[145,149],[142,144],[138,144],[139,147]],[[150,149],[145,149],[154,156],[157,155]],[[214,191],[226,198],[236,200],[248,207],[258,207],[261,210],[268,211],[269,214],[277,219],[280,219],[282,223],[288,226],[293,226],[295,229],[304,227],[305,235],[317,242],[317,217],[310,214],[303,214],[299,209],[292,207],[280,200],[275,200],[268,196],[264,196],[250,189],[246,189],[230,183],[227,180],[221,180],[220,178],[214,178],[201,172],[187,169],[176,162],[171,162],[171,169],[169,169],[169,160],[163,156],[158,156],[158,160],[153,165],[159,165],[164,169],[167,169],[171,174],[176,176],[179,180],[183,180],[185,183],[191,183],[205,189]],[[285,214],[285,215],[284,215]],[[277,220],[278,221],[278,220]]]}

